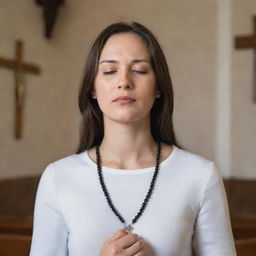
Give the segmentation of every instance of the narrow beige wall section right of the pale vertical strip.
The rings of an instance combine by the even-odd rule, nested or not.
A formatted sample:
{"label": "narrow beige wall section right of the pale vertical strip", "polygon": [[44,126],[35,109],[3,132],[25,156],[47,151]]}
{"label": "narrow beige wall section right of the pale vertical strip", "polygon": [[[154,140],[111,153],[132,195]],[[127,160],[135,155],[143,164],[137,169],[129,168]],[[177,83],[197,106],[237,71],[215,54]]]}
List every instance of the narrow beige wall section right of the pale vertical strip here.
{"label": "narrow beige wall section right of the pale vertical strip", "polygon": [[[251,35],[256,1],[233,1],[233,35]],[[236,177],[256,177],[256,103],[252,102],[254,54],[232,52],[232,172]],[[253,75],[254,73],[254,75]]]}

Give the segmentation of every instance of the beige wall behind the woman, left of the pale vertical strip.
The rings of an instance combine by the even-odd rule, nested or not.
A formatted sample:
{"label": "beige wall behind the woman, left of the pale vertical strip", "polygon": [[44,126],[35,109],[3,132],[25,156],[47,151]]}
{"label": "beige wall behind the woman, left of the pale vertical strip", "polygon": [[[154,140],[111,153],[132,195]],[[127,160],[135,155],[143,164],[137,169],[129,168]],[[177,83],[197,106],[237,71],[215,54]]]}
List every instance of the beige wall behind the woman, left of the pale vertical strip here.
{"label": "beige wall behind the woman, left of the pale vertical strip", "polygon": [[139,21],[159,38],[174,84],[178,138],[188,150],[215,159],[216,1],[67,1],[49,41],[43,37],[42,10],[33,1],[1,5],[0,56],[12,57],[14,41],[21,38],[25,60],[39,64],[42,74],[25,76],[24,137],[16,141],[13,73],[0,69],[0,178],[37,175],[75,152],[85,56],[98,32],[120,20]]}

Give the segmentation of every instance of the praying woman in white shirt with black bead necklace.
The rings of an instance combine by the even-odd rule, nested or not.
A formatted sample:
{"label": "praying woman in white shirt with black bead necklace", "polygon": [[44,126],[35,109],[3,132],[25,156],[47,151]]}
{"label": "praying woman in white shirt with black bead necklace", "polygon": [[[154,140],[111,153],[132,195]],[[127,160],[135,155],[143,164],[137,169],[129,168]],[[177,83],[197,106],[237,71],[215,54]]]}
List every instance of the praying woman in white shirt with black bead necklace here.
{"label": "praying woman in white shirt with black bead necklace", "polygon": [[30,256],[234,256],[214,163],[182,150],[167,63],[138,23],[108,26],[79,94],[77,154],[44,171]]}

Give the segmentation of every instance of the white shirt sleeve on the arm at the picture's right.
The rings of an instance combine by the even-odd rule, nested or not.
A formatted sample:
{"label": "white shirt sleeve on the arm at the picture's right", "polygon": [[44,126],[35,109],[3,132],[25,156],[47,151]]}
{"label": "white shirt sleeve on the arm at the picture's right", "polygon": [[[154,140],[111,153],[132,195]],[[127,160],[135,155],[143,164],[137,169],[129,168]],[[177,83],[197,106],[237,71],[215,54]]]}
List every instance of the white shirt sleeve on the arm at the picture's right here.
{"label": "white shirt sleeve on the arm at the picture's right", "polygon": [[193,246],[198,256],[236,256],[223,180],[212,166],[195,222]]}

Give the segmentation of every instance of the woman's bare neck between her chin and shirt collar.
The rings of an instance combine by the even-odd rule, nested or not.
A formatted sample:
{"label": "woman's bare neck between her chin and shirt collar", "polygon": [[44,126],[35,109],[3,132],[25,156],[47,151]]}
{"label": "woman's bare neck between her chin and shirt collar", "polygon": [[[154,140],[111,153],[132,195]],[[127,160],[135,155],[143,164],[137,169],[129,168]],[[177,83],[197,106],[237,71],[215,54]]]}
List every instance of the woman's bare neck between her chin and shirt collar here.
{"label": "woman's bare neck between her chin and shirt collar", "polygon": [[156,142],[150,126],[111,125],[104,127],[104,138],[100,146],[103,165],[113,165],[120,169],[133,169],[139,165],[154,165]]}

